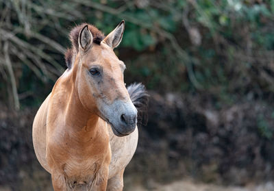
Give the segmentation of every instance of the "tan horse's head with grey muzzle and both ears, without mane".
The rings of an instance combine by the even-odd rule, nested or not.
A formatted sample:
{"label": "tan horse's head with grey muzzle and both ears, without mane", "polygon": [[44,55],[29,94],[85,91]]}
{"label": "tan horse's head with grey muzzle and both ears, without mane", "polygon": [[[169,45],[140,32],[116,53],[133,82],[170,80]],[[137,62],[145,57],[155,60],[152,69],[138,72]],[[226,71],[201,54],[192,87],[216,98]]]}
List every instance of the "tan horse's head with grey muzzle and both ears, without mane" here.
{"label": "tan horse's head with grey muzzle and both ears, without mane", "polygon": [[122,40],[125,22],[99,43],[89,28],[82,27],[77,43],[75,87],[79,100],[87,110],[110,123],[116,136],[126,136],[136,127],[137,110],[125,88],[125,64],[113,51]]}

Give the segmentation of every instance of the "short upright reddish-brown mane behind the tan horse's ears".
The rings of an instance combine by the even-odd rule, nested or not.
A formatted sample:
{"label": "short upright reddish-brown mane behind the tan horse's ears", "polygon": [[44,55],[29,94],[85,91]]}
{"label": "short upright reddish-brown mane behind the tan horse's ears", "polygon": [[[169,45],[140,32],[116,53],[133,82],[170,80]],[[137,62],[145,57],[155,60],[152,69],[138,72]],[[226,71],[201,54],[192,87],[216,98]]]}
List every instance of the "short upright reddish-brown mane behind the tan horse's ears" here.
{"label": "short upright reddish-brown mane behind the tan horse's ears", "polygon": [[64,59],[66,60],[66,66],[71,69],[71,66],[75,60],[75,56],[77,55],[79,51],[79,44],[78,44],[78,36],[79,32],[81,29],[88,25],[88,29],[90,30],[92,37],[93,37],[93,42],[96,44],[100,44],[103,38],[105,36],[97,27],[87,24],[87,23],[82,23],[81,25],[77,25],[76,27],[73,27],[71,29],[71,32],[69,34],[69,38],[71,40],[71,48],[66,50],[66,53],[64,54]]}

